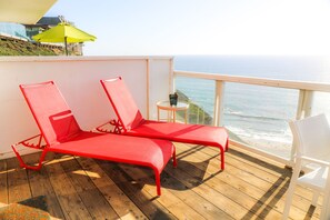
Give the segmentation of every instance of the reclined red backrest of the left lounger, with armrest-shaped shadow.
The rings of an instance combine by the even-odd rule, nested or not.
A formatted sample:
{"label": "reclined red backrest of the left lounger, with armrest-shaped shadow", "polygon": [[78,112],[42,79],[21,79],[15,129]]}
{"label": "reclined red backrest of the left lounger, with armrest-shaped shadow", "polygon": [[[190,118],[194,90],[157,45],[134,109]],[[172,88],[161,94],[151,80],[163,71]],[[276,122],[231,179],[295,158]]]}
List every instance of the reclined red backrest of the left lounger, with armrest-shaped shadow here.
{"label": "reclined red backrest of the left lounger, with armrest-shaped shadow", "polygon": [[53,81],[20,89],[48,146],[66,142],[81,129]]}

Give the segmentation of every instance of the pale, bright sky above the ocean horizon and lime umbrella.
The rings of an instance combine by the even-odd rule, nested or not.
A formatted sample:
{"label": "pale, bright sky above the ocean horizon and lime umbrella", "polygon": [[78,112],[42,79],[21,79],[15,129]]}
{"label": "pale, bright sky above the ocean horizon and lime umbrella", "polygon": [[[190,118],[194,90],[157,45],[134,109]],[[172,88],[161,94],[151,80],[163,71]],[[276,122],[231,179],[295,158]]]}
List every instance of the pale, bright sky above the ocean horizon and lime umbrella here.
{"label": "pale, bright sky above the ocean horizon and lime umbrella", "polygon": [[330,54],[330,0],[58,0],[86,56]]}

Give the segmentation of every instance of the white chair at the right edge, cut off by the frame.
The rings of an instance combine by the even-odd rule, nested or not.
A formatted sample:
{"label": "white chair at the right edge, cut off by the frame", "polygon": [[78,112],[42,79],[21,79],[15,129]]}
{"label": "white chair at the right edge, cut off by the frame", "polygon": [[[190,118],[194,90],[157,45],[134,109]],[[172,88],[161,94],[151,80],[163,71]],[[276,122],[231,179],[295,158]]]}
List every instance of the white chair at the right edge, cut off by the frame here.
{"label": "white chair at the right edge, cut off by the frame", "polygon": [[[288,219],[296,184],[308,187],[314,191],[312,206],[317,206],[318,197],[323,193],[320,219],[330,219],[330,127],[324,114],[291,121],[290,128],[293,142],[297,144],[296,164],[288,189],[283,218]],[[299,177],[307,164],[314,164],[314,169]],[[316,167],[317,164],[317,167]]]}

